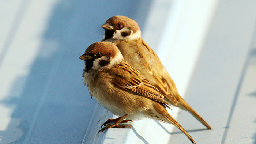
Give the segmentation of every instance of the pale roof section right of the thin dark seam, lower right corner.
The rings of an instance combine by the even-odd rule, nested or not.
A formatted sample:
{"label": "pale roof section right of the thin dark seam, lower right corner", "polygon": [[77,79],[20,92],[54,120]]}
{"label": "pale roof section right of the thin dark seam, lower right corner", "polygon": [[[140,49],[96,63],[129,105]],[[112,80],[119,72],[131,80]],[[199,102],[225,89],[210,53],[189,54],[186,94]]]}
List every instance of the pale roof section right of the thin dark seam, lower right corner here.
{"label": "pale roof section right of the thin dark seam, lower right corner", "polygon": [[247,65],[225,143],[256,143],[256,50]]}

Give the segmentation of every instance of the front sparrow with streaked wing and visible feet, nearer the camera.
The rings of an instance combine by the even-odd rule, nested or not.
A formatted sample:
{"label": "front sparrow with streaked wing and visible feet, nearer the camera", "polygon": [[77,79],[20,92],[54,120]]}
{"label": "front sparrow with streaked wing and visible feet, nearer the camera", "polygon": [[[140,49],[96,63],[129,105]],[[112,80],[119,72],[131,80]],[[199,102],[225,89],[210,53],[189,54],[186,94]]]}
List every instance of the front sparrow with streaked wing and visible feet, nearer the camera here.
{"label": "front sparrow with streaked wing and visible feet, nearer the camera", "polygon": [[[120,116],[107,120],[102,125],[105,127],[101,126],[99,132],[114,127],[131,128],[129,125],[119,124],[152,118],[175,125],[192,143],[195,143],[184,128],[167,112],[166,107],[170,107],[164,101],[161,92],[124,60],[114,43],[93,43],[79,58],[85,61],[82,77],[90,95],[99,105],[114,115]],[[124,120],[125,118],[128,120]],[[109,122],[115,123],[108,124]]]}

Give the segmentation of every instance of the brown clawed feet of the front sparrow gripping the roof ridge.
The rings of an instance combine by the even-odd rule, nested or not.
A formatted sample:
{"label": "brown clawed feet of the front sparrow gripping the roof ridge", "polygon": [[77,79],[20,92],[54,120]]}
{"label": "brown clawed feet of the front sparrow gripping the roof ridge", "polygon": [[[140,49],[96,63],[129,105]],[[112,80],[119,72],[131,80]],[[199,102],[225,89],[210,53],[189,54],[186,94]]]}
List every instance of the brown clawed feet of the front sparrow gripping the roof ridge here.
{"label": "brown clawed feet of the front sparrow gripping the roof ridge", "polygon": [[[106,125],[105,127],[102,128],[103,125],[101,125],[101,130],[99,130],[99,132],[103,132],[105,129],[108,129],[108,128],[127,128],[127,126],[129,125],[119,125],[121,122],[128,122],[128,121],[131,121],[133,122],[132,120],[124,120],[125,117],[127,117],[128,114],[125,114],[123,117],[119,117],[119,118],[115,118],[115,119],[108,119],[106,122],[104,122],[104,126],[106,124],[108,124],[109,122],[116,122],[114,124],[108,124]],[[129,126],[131,128],[131,126]],[[99,132],[98,132],[98,135],[99,135]]]}

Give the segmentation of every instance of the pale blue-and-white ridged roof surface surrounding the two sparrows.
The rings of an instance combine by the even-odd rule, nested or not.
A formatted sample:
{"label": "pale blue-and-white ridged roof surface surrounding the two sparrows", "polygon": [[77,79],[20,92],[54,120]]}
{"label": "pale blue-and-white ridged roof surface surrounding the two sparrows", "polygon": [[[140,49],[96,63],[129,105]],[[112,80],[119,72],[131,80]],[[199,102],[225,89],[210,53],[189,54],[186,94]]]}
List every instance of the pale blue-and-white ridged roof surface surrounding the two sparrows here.
{"label": "pale blue-and-white ridged roof surface surrounding the two sparrows", "polygon": [[114,15],[139,23],[181,96],[212,126],[205,130],[186,111],[170,110],[197,143],[221,143],[224,135],[225,143],[255,143],[255,58],[241,78],[255,46],[255,5],[252,0],[0,1],[0,143],[191,143],[154,120],[97,137],[112,114],[90,98],[78,57],[101,40],[101,24]]}

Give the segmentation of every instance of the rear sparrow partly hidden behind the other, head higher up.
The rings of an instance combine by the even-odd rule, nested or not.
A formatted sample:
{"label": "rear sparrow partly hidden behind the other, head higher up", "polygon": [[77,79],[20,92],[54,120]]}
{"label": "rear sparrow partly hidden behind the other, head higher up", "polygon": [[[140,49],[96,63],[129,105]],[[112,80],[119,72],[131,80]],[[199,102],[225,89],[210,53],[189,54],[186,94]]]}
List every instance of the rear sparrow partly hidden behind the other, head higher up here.
{"label": "rear sparrow partly hidden behind the other, head higher up", "polygon": [[211,129],[211,126],[178,94],[174,81],[159,57],[141,38],[140,27],[135,20],[126,16],[113,16],[102,27],[105,29],[102,41],[114,43],[123,54],[124,60],[158,88],[167,103],[188,111]]}

